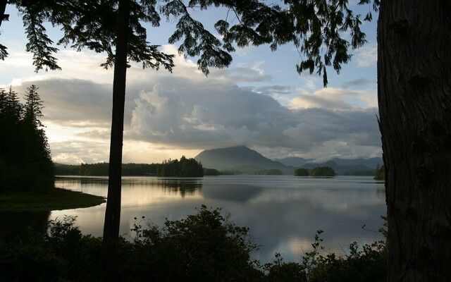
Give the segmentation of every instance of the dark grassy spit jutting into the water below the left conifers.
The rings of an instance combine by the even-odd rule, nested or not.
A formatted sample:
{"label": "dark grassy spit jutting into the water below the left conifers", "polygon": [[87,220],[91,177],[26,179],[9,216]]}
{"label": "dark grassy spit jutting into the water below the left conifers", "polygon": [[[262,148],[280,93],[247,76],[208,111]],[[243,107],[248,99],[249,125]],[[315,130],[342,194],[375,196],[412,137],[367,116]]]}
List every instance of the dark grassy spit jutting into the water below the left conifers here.
{"label": "dark grassy spit jutting into the water below the left conifers", "polygon": [[104,197],[55,188],[49,192],[2,192],[0,212],[54,211],[94,207]]}

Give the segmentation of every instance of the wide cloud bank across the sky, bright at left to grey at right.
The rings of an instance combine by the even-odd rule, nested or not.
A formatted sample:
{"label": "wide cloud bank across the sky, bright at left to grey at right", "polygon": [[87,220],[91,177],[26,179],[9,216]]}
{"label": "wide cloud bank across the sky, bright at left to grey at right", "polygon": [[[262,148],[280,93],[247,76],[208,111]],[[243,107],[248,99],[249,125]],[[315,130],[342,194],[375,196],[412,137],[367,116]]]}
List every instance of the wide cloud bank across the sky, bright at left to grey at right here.
{"label": "wide cloud bank across the sky, bright at left to grey at right", "polygon": [[[173,46],[164,49],[176,52]],[[92,75],[85,68],[81,78],[42,75],[14,87],[20,93],[32,83],[39,87],[55,161],[108,160],[111,81],[101,68],[88,65]],[[203,149],[233,145],[270,158],[381,154],[375,92],[312,85],[293,90],[271,84],[261,63],[211,69],[208,78],[182,56],[175,57],[175,65],[173,73],[137,65],[128,70],[124,161],[161,161],[183,152],[194,157]]]}

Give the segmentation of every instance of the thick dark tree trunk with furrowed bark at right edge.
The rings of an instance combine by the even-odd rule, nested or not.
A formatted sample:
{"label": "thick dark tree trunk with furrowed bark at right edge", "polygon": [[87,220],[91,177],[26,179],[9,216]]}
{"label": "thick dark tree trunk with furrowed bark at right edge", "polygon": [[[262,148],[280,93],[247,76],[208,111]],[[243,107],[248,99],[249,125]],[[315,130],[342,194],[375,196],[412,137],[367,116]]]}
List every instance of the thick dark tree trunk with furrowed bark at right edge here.
{"label": "thick dark tree trunk with furrowed bark at right edge", "polygon": [[381,1],[388,281],[451,279],[450,6],[449,0]]}

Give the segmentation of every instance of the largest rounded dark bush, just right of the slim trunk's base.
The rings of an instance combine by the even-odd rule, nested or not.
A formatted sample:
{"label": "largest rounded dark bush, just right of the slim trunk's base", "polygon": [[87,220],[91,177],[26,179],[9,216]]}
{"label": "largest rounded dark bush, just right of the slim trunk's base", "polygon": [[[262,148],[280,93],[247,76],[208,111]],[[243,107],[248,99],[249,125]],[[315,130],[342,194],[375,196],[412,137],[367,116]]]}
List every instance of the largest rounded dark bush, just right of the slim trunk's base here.
{"label": "largest rounded dark bush, just right of the slim trunk's base", "polygon": [[[204,205],[195,215],[166,221],[159,229],[136,224],[135,245],[142,250],[142,269],[155,281],[261,281],[250,252],[249,228],[236,226],[221,209]],[[151,279],[152,280],[152,279]]]}

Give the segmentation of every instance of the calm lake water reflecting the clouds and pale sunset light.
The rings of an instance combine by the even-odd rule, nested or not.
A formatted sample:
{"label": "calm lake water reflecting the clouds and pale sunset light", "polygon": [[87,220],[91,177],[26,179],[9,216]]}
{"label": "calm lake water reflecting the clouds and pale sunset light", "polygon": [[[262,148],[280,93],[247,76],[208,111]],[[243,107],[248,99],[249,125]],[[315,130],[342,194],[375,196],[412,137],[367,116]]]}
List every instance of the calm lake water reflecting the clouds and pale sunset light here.
{"label": "calm lake water reflecting the clouds and pale sunset light", "polygon": [[[56,186],[106,197],[108,179],[58,177]],[[206,176],[204,178],[124,177],[121,234],[130,238],[134,218],[163,226],[196,214],[196,207],[221,207],[240,226],[250,228],[261,262],[280,252],[285,262],[299,262],[311,250],[317,230],[326,250],[342,253],[347,245],[383,239],[376,233],[385,216],[383,183],[366,176],[302,178],[295,176]],[[49,219],[77,216],[82,233],[100,236],[106,204],[53,211]],[[365,228],[362,226],[366,225]]]}

